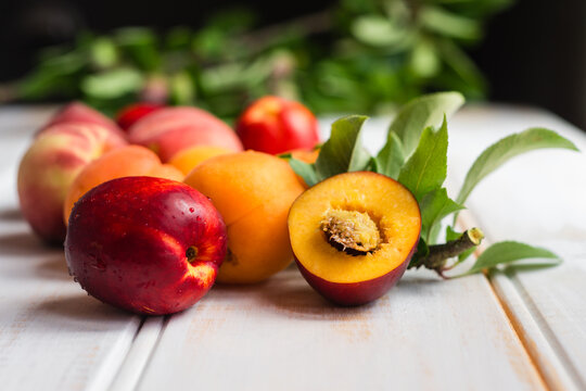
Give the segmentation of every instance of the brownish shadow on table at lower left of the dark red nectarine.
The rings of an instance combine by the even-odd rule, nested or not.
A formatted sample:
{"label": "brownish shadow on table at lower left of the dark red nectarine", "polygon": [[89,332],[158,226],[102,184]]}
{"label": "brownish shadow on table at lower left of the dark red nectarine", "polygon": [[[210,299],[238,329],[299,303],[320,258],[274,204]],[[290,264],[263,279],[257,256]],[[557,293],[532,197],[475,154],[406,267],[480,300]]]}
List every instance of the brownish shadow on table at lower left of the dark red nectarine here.
{"label": "brownish shadow on table at lower left of the dark red nectarine", "polygon": [[33,312],[42,319],[43,330],[106,331],[115,324],[122,328],[138,315],[104,304],[84,293],[51,298],[36,305]]}

